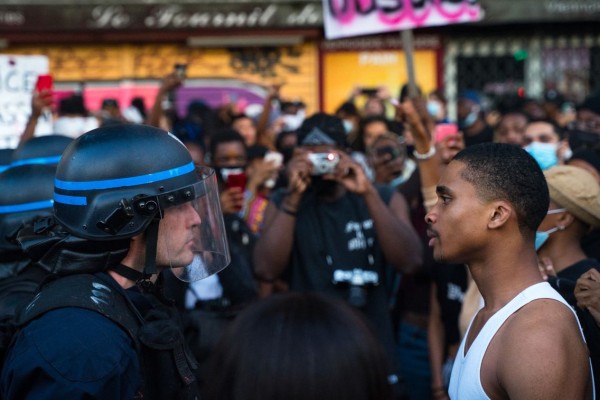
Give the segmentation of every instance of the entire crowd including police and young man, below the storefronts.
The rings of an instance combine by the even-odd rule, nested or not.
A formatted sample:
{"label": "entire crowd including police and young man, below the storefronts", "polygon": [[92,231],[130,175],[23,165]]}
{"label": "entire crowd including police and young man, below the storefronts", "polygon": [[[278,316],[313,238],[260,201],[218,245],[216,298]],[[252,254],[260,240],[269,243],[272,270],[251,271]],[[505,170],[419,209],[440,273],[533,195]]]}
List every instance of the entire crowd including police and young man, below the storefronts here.
{"label": "entire crowd including police and young man, below the storefronts", "polygon": [[595,396],[600,93],[464,90],[453,119],[439,90],[307,115],[275,85],[180,116],[184,80],[73,95],[41,137],[33,93],[0,172],[2,398]]}

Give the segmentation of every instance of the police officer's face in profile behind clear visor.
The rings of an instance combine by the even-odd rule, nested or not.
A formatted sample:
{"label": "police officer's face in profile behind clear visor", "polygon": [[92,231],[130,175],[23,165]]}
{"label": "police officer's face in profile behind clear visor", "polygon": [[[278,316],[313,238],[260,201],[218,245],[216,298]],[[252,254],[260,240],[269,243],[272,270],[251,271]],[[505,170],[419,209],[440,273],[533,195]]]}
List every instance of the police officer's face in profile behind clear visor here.
{"label": "police officer's face in profile behind clear visor", "polygon": [[167,208],[158,227],[156,264],[171,268],[189,265],[200,222],[192,202]]}

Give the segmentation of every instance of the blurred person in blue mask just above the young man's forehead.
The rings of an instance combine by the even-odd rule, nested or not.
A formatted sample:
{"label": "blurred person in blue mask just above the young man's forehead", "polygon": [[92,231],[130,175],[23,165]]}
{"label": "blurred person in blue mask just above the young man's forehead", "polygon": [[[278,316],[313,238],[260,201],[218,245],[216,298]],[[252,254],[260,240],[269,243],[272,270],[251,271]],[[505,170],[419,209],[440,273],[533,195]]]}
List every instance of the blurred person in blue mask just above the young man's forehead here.
{"label": "blurred person in blue mask just above the young man's forehead", "polygon": [[494,140],[494,129],[484,118],[479,93],[474,90],[463,91],[458,95],[456,106],[458,128],[464,134],[466,147]]}

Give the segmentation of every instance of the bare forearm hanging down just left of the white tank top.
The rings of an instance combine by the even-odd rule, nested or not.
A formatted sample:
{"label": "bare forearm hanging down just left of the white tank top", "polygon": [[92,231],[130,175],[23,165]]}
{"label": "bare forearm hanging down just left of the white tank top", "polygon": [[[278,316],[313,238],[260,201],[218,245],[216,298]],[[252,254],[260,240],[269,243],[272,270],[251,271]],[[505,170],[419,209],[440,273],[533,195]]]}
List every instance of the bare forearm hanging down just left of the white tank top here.
{"label": "bare forearm hanging down just left of the white tank top", "polygon": [[427,327],[427,344],[429,347],[429,364],[431,365],[431,398],[448,399],[444,386],[444,324],[437,300],[437,286],[431,283],[431,299],[429,301],[429,323]]}

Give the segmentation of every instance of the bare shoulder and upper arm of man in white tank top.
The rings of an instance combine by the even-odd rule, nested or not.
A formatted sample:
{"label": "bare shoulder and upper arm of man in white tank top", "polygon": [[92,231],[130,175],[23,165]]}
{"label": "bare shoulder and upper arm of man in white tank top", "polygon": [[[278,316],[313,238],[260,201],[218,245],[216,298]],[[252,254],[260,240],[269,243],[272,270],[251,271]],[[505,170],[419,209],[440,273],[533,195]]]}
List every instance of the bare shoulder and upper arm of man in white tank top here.
{"label": "bare shoulder and upper arm of man in white tank top", "polygon": [[568,307],[550,299],[536,300],[502,329],[494,344],[498,356],[493,377],[485,379],[485,358],[482,364],[484,389],[510,399],[590,398],[588,350]]}

